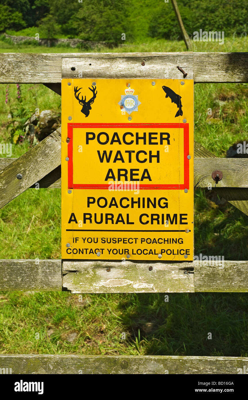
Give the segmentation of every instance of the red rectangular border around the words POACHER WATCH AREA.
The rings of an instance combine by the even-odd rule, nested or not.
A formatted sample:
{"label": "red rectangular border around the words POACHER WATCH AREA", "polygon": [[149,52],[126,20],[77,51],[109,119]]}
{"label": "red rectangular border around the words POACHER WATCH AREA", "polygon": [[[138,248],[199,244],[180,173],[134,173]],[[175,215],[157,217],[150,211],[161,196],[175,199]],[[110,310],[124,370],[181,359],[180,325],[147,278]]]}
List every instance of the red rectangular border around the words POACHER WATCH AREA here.
{"label": "red rectangular border around the words POACHER WATCH AREA", "polygon": [[183,150],[184,150],[184,183],[183,184],[140,184],[139,188],[146,190],[183,190],[189,189],[189,128],[188,123],[171,123],[171,124],[115,124],[115,123],[68,123],[67,135],[69,143],[67,146],[68,154],[68,189],[109,189],[109,184],[73,184],[73,128],[183,128]]}

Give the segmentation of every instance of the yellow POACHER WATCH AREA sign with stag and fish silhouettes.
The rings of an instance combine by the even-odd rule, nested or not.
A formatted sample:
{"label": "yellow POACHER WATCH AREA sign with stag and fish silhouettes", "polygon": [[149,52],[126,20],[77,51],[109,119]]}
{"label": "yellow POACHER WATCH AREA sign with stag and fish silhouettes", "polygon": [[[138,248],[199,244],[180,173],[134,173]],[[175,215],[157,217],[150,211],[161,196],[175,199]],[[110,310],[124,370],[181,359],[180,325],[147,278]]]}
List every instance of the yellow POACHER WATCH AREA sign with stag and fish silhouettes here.
{"label": "yellow POACHER WATCH AREA sign with stag and fish silhouettes", "polygon": [[62,258],[193,260],[193,80],[62,80]]}

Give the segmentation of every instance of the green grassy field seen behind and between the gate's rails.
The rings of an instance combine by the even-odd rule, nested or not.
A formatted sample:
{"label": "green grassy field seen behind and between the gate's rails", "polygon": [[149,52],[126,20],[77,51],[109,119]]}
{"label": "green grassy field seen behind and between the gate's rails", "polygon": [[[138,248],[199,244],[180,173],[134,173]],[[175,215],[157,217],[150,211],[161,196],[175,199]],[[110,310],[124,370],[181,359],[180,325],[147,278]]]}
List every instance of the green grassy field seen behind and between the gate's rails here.
{"label": "green grassy field seen behind and between the gate's rails", "polygon": [[[1,52],[79,50],[0,42]],[[99,51],[185,51],[185,45],[149,40]],[[247,42],[194,42],[194,51],[247,51]],[[22,84],[21,103],[16,90],[9,85],[6,106],[6,85],[0,86],[2,143],[10,143],[9,106],[28,116],[37,107],[60,112],[60,96],[43,85]],[[219,157],[234,142],[248,141],[247,95],[247,84],[196,84],[195,140]],[[12,157],[28,145],[13,144]],[[227,202],[216,203],[211,190],[196,190],[195,253],[247,260],[248,217]],[[0,210],[0,235],[0,258],[60,258],[60,190],[28,190],[7,204]],[[0,353],[248,356],[248,294],[170,294],[169,302],[164,296],[0,292]]]}

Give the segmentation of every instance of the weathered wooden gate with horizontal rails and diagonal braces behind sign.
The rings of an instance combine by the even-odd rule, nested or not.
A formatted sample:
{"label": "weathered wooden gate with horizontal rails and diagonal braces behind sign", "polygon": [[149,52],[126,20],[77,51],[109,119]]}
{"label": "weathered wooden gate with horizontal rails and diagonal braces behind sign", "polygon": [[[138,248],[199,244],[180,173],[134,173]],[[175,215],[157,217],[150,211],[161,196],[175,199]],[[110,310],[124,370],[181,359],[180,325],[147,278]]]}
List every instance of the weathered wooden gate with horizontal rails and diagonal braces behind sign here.
{"label": "weathered wooden gate with horizontal rails and diagonal braces behind sign", "polygon": [[[248,82],[248,53],[1,54],[0,83],[42,83],[61,95],[62,78],[194,79]],[[38,182],[61,187],[61,129],[18,159],[0,158],[0,208]],[[194,187],[213,188],[248,215],[248,159],[217,158],[194,142]],[[17,179],[22,174],[22,179]],[[0,260],[0,290],[69,290],[71,293],[247,292],[248,261],[109,262]],[[151,268],[152,267],[152,268]],[[2,355],[12,373],[237,373],[242,357]],[[184,362],[182,363],[182,360]],[[68,371],[68,364],[71,365]],[[180,366],[180,367],[179,367]],[[109,373],[107,372],[107,373]]]}

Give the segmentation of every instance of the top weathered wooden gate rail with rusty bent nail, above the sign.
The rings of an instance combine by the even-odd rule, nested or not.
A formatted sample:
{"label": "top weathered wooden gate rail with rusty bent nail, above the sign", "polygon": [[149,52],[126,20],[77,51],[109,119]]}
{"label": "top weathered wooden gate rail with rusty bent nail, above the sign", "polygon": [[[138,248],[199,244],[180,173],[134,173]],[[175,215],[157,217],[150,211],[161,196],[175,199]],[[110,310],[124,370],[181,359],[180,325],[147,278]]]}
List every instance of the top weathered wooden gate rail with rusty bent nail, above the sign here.
{"label": "top weathered wooden gate rail with rusty bent nail, above the sign", "polygon": [[195,83],[248,82],[247,64],[246,52],[2,53],[0,83],[58,84],[55,89],[62,78],[182,79],[177,66]]}

